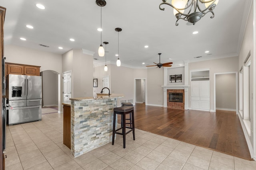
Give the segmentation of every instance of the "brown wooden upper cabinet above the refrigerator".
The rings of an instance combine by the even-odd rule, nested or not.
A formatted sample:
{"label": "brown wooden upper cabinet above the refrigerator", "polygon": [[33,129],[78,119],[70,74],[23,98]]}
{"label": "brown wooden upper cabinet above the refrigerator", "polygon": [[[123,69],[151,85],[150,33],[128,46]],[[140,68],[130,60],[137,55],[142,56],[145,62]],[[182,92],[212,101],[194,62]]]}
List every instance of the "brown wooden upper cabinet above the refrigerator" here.
{"label": "brown wooden upper cabinet above the refrigerator", "polygon": [[20,74],[29,76],[40,76],[40,66],[31,66],[24,64],[5,63],[6,75]]}

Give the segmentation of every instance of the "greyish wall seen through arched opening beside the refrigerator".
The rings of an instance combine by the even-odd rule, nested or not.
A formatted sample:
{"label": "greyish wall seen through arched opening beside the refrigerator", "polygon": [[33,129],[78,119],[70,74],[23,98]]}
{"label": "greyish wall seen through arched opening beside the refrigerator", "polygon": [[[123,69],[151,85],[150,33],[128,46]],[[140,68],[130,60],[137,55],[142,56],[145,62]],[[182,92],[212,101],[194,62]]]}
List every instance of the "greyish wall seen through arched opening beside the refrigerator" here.
{"label": "greyish wall seen through arched opening beside the refrigerator", "polygon": [[58,106],[58,74],[51,70],[42,72],[43,106]]}

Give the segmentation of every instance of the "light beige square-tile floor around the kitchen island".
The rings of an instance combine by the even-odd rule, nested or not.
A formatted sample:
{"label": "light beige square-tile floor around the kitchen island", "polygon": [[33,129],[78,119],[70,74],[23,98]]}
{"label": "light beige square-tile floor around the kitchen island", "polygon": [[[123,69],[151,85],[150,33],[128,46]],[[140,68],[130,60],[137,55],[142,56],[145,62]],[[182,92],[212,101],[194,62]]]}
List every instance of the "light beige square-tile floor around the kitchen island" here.
{"label": "light beige square-tile floor around the kitchen island", "polygon": [[43,108],[42,121],[7,127],[6,170],[256,170],[248,161],[136,129],[78,158],[62,144],[63,115]]}

